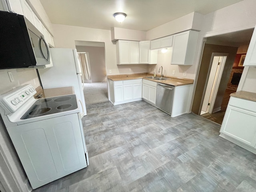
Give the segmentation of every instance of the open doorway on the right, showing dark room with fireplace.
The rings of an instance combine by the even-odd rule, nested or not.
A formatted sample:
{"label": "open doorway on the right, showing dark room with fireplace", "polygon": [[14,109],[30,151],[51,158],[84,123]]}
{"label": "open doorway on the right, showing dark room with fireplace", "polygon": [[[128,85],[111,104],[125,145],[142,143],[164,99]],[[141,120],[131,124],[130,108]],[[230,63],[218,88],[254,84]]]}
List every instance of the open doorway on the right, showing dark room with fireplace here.
{"label": "open doorway on the right, showing dark room with fireplace", "polygon": [[[242,56],[247,52],[252,32],[253,29],[249,29],[206,38],[192,102],[192,112],[218,124],[222,124],[230,94],[236,92],[240,81],[243,70],[240,61],[243,61]],[[219,86],[213,83],[214,80],[212,86],[210,86],[211,80],[209,77],[212,69],[212,54],[214,52],[228,54]],[[216,60],[218,59],[216,58]],[[215,70],[217,70],[216,66]],[[216,73],[213,73],[212,76],[215,78]],[[217,91],[215,99],[211,96],[212,90]],[[207,101],[210,97],[214,100],[212,110],[210,110],[208,106],[208,103],[210,103],[211,106],[211,102]]]}

